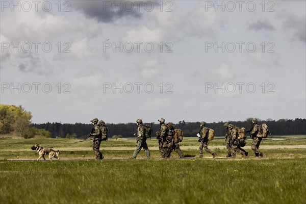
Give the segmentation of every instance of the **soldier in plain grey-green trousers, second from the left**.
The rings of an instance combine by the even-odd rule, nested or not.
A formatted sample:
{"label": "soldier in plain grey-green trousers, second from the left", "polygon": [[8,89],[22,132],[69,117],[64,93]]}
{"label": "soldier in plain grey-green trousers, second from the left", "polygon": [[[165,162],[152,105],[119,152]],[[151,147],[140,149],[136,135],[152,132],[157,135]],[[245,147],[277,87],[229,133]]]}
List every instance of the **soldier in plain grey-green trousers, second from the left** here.
{"label": "soldier in plain grey-green trousers, second from the left", "polygon": [[146,143],[146,135],[145,135],[145,126],[142,124],[142,119],[137,119],[137,143],[138,146],[136,147],[134,154],[130,159],[136,159],[137,155],[139,154],[141,148],[144,149],[146,153],[146,157],[150,159],[150,150],[148,148],[148,145]]}

